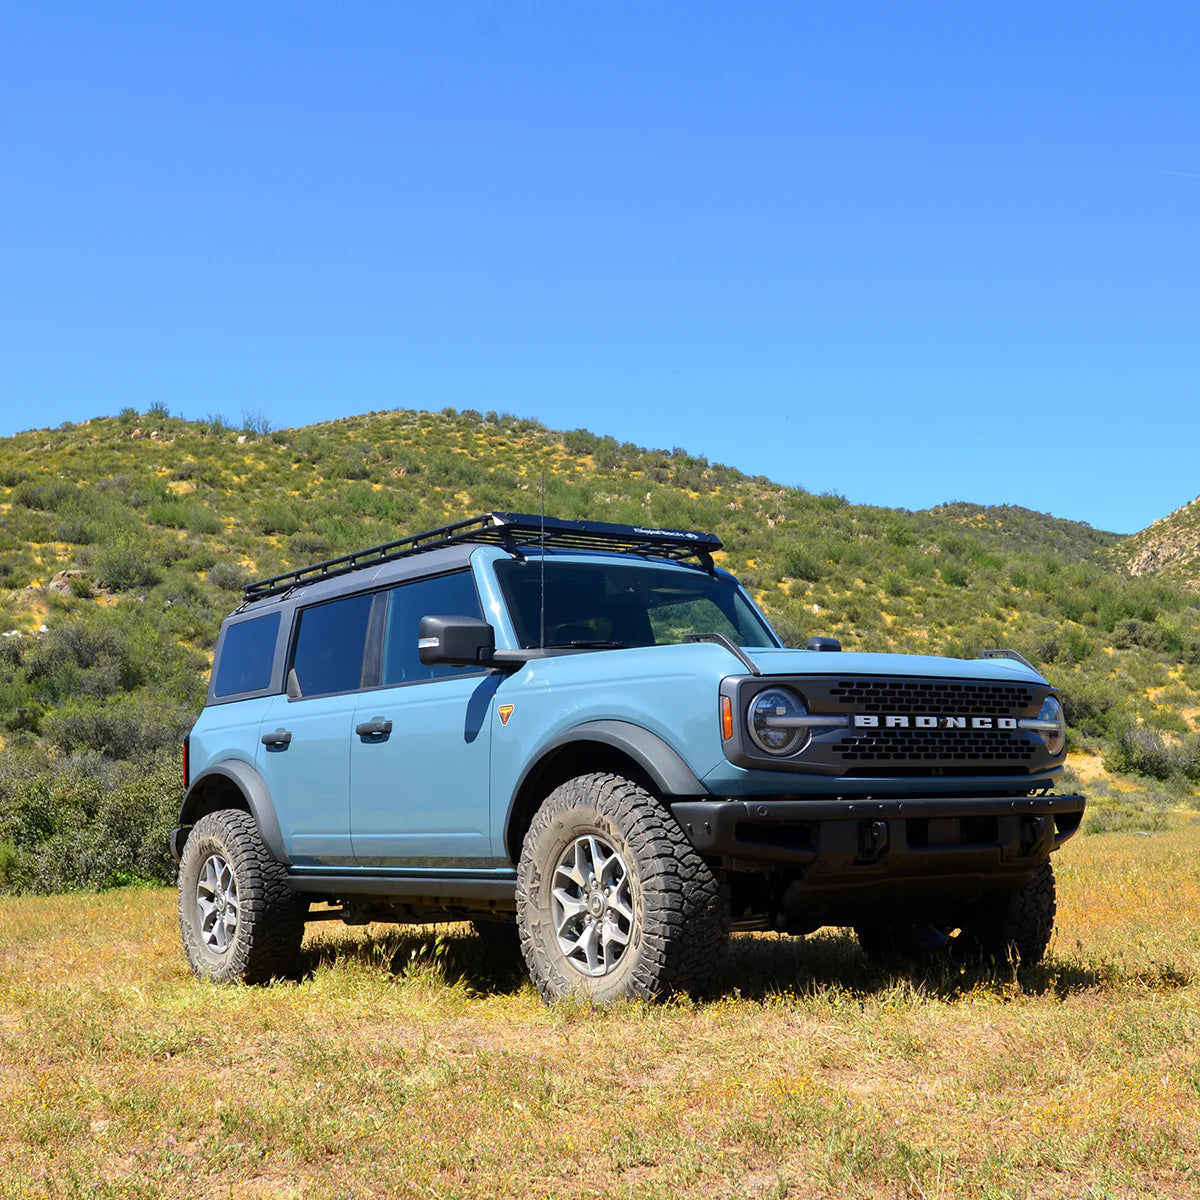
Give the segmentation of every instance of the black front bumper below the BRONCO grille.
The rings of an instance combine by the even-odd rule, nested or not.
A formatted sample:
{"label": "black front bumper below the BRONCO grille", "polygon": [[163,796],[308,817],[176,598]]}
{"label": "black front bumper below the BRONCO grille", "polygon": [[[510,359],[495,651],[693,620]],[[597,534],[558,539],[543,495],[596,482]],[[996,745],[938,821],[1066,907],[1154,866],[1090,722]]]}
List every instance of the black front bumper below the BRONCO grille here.
{"label": "black front bumper below the BRONCO grille", "polygon": [[1082,796],[684,800],[692,846],[733,870],[860,882],[1033,870],[1070,838]]}

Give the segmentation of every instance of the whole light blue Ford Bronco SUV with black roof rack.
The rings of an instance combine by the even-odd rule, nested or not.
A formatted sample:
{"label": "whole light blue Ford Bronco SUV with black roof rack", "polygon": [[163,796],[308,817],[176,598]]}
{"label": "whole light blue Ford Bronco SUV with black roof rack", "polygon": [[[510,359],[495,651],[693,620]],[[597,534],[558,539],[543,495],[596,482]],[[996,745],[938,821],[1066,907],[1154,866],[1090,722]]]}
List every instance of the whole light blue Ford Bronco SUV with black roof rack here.
{"label": "whole light blue Ford Bronco SUV with black roof rack", "polygon": [[731,929],[1040,959],[1055,690],[787,649],[718,550],[490,512],[248,586],[172,834],[196,973],[293,974],[318,916],[515,922],[547,1001],[701,989]]}

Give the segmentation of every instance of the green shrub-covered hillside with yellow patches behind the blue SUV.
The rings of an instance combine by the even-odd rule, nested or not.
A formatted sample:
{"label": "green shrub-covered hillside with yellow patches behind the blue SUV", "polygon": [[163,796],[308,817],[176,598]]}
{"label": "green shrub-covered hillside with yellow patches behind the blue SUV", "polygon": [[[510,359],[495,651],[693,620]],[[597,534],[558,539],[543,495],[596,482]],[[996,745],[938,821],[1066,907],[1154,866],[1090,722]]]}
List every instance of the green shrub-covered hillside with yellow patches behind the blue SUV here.
{"label": "green shrub-covered hillside with yellow patches behind the blue SUV", "polygon": [[[716,530],[792,644],[1020,650],[1066,690],[1103,827],[1200,780],[1200,598],[1020,508],[907,512],[496,413],[298,430],[166,408],[0,439],[0,886],[169,877],[178,743],[246,581],[488,509]],[[1148,780],[1130,790],[1129,780]],[[1094,826],[1093,826],[1094,827]]]}

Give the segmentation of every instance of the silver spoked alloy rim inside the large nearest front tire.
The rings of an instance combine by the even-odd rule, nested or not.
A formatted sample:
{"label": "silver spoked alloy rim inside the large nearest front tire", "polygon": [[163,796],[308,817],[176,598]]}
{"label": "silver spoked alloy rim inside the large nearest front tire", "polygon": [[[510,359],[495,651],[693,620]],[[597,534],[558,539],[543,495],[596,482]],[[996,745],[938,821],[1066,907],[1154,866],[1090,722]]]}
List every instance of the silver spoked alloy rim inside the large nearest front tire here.
{"label": "silver spoked alloy rim inside the large nearest front tire", "polygon": [[551,912],[558,948],[576,971],[606,976],[634,931],[629,868],[602,838],[584,834],[554,869]]}

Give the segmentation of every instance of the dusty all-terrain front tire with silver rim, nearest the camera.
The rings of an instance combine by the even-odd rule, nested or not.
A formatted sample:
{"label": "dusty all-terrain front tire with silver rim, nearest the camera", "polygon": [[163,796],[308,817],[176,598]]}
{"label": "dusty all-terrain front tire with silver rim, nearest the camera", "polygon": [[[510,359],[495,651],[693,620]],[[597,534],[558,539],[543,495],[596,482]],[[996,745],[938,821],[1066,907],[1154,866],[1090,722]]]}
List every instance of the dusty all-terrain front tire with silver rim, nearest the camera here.
{"label": "dusty all-terrain front tire with silver rim, nearest the camera", "polygon": [[654,797],[620,775],[593,774],[551,792],[529,826],[517,926],[547,1003],[572,994],[654,1001],[708,983],[728,941],[728,908],[712,868]]}

